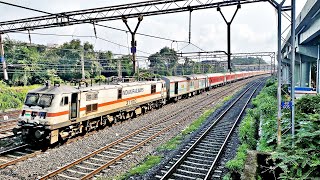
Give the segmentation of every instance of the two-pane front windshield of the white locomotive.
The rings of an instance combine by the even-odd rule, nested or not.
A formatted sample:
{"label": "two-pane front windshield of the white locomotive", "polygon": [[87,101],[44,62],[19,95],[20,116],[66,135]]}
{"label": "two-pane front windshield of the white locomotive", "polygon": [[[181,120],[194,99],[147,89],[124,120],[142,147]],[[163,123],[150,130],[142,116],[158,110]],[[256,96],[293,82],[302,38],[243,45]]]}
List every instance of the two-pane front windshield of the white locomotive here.
{"label": "two-pane front windshield of the white locomotive", "polygon": [[25,105],[27,105],[27,106],[50,107],[52,99],[53,99],[53,95],[52,94],[29,93],[27,95]]}

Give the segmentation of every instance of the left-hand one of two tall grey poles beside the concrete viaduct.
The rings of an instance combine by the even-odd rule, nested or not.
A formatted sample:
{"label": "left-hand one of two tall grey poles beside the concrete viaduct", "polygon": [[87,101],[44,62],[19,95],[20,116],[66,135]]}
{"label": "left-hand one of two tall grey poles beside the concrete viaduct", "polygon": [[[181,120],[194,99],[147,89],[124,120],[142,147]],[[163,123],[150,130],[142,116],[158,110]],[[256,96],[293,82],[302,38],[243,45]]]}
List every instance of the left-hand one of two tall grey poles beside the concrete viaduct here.
{"label": "left-hand one of two tall grey poles beside the concrete viaduct", "polygon": [[277,98],[278,98],[278,116],[277,116],[277,144],[281,144],[281,8],[282,5],[278,5],[278,89],[277,89]]}

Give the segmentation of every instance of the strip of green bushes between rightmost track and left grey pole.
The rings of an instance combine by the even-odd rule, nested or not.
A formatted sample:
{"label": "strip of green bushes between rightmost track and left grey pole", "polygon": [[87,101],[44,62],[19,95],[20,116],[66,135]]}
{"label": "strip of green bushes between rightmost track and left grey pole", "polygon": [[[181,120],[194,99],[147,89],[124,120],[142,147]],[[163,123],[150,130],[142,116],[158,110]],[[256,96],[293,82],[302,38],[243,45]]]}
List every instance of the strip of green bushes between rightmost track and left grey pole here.
{"label": "strip of green bushes between rightmost track and left grey pole", "polygon": [[[258,127],[260,121],[262,121],[262,129],[274,128],[274,132],[263,133],[260,137],[260,143],[258,149],[268,150],[266,142],[274,143],[275,137],[273,137],[276,131],[275,114],[276,114],[276,93],[277,86],[275,79],[269,79],[266,82],[265,87],[261,90],[260,94],[253,99],[253,109],[248,109],[246,116],[240,123],[239,127],[239,139],[241,145],[237,150],[237,155],[234,159],[227,162],[226,167],[230,170],[229,176],[233,179],[240,177],[244,169],[245,160],[247,158],[247,150],[256,149],[258,137]],[[269,123],[269,121],[272,123]],[[275,126],[275,127],[274,127]]]}

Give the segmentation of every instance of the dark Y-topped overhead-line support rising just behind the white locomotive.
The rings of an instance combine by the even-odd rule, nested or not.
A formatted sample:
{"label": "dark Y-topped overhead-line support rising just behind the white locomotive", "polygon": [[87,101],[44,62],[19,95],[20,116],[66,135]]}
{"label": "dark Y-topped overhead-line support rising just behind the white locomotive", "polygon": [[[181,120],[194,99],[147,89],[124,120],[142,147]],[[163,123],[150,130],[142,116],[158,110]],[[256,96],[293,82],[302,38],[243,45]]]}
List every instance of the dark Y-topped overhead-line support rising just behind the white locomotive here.
{"label": "dark Y-topped overhead-line support rising just behind the white locomotive", "polygon": [[136,35],[136,32],[138,30],[138,27],[139,27],[142,19],[143,19],[143,16],[138,17],[138,24],[137,24],[136,28],[134,29],[134,31],[132,31],[128,25],[127,18],[125,16],[122,16],[122,21],[127,26],[129,32],[131,33],[131,53],[132,53],[133,75],[135,73],[137,73],[138,76],[139,76],[139,69],[137,69],[137,66],[136,66],[137,41],[136,41],[135,35]]}

